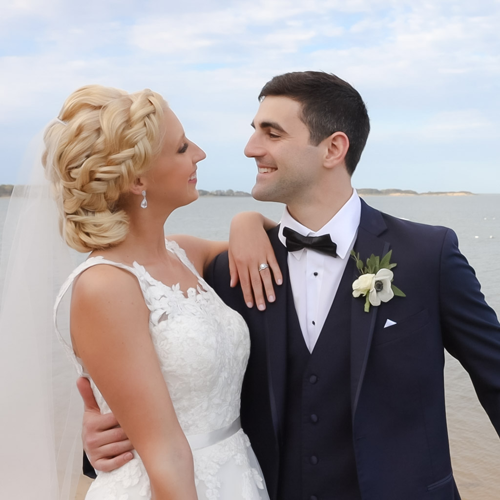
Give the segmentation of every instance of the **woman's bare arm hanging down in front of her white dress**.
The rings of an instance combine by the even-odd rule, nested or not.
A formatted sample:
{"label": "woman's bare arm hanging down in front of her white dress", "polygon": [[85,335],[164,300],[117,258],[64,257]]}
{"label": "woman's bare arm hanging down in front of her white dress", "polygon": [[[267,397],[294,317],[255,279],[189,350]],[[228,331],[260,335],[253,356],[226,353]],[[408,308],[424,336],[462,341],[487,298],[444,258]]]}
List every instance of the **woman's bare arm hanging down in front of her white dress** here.
{"label": "woman's bare arm hanging down in front of her white dress", "polygon": [[99,265],[75,281],[71,337],[77,355],[139,453],[152,498],[195,499],[192,454],[148,331],[135,277]]}

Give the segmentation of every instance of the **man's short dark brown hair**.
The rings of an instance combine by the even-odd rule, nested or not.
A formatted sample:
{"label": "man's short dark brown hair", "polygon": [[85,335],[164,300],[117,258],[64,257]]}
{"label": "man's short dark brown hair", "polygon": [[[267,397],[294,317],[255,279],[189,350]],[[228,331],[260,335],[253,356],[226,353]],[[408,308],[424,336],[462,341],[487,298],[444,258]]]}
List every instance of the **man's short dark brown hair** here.
{"label": "man's short dark brown hair", "polygon": [[289,97],[300,102],[300,119],[309,129],[309,140],[313,145],[333,132],[345,133],[349,138],[345,166],[352,175],[370,131],[366,106],[353,86],[332,73],[295,71],[269,80],[262,87],[258,100],[266,95]]}

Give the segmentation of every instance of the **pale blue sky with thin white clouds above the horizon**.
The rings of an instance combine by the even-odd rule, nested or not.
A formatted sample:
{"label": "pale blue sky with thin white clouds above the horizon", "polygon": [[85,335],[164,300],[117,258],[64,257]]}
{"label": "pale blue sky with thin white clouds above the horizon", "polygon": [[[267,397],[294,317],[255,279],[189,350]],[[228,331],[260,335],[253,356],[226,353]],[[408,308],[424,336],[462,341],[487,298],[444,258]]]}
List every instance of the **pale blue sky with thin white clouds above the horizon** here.
{"label": "pale blue sky with thin white clouds above the horizon", "polygon": [[500,0],[0,3],[0,183],[86,83],[160,92],[207,152],[198,187],[250,190],[242,154],[273,75],[333,72],[371,133],[356,187],[500,192]]}

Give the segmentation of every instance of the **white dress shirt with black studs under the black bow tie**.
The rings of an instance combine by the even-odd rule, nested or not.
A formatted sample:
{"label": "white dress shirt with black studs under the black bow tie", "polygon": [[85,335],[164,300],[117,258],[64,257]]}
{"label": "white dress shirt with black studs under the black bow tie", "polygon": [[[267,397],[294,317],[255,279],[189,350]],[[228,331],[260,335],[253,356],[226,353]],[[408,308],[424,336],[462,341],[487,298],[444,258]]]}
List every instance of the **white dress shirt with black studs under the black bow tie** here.
{"label": "white dress shirt with black studs under the black bow tie", "polygon": [[285,245],[283,228],[289,227],[303,236],[329,234],[337,245],[337,256],[332,257],[310,248],[288,252],[288,272],[298,322],[305,345],[312,352],[319,337],[333,298],[342,278],[350,251],[357,236],[361,218],[361,201],[355,189],[340,210],[321,229],[311,231],[297,222],[284,209],[278,237]]}

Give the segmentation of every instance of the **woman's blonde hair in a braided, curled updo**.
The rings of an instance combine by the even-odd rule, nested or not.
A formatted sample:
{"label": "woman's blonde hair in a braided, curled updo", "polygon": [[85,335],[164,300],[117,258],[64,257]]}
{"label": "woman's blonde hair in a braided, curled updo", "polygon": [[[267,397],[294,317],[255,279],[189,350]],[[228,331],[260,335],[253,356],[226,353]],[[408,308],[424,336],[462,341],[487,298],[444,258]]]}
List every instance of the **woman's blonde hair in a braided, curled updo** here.
{"label": "woman's blonde hair in a braided, curled updo", "polygon": [[128,217],[118,199],[159,152],[165,107],[149,89],[129,94],[87,85],[65,100],[47,126],[42,163],[69,246],[87,252],[123,241]]}

